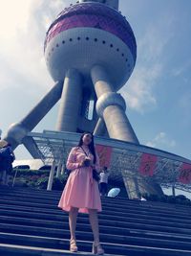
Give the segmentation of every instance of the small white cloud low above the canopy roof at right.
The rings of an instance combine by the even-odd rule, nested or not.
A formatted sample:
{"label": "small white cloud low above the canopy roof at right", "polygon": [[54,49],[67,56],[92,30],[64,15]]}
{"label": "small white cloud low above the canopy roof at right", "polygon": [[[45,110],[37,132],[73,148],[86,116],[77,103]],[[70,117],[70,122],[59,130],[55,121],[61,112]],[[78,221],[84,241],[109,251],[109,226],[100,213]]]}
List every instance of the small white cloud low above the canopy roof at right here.
{"label": "small white cloud low above the canopy roof at right", "polygon": [[176,141],[168,138],[168,135],[165,132],[161,131],[159,132],[159,134],[156,135],[154,139],[147,142],[146,146],[160,149],[172,149],[176,146]]}

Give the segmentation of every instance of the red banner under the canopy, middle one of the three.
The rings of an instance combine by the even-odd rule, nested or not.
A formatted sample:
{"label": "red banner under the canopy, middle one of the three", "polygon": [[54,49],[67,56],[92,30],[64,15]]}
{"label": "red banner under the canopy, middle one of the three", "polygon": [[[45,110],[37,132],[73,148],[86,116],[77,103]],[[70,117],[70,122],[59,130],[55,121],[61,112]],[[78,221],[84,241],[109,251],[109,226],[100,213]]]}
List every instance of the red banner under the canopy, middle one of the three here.
{"label": "red banner under the canopy, middle one of the three", "polygon": [[140,159],[139,173],[145,176],[153,176],[158,161],[157,155],[142,153]]}

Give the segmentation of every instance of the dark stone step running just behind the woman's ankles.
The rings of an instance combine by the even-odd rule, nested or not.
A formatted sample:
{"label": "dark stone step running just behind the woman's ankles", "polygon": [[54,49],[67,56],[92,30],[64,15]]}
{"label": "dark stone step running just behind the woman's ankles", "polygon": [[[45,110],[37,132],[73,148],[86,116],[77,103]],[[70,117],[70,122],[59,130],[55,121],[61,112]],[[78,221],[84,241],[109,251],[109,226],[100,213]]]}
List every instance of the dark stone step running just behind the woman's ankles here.
{"label": "dark stone step running just behind the woman's ankles", "polygon": [[[29,226],[29,225],[16,225],[16,224],[4,224],[0,223],[0,232],[11,232],[14,234],[26,234],[33,236],[45,236],[52,238],[70,238],[70,232],[67,229],[54,229],[45,228],[39,226]],[[85,230],[76,230],[76,237],[80,240],[91,241],[93,240],[92,232]],[[124,235],[121,230],[121,234],[100,233],[100,240],[104,243],[117,243],[117,244],[136,244],[136,245],[147,245],[147,246],[162,246],[169,248],[181,248],[181,249],[191,249],[190,242],[180,242],[171,241],[168,239],[153,239],[144,237],[132,237],[129,235]]]}

